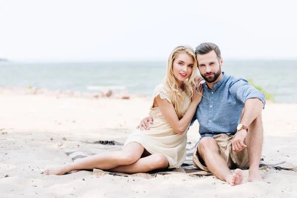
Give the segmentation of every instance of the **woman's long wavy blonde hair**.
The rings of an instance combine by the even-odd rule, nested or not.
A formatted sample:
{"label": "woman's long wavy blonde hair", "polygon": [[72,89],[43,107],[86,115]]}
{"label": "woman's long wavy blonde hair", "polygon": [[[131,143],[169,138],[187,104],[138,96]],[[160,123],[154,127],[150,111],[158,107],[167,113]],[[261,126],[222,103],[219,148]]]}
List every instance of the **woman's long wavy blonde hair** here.
{"label": "woman's long wavy blonde hair", "polygon": [[168,97],[172,101],[172,104],[174,106],[174,109],[179,119],[183,117],[183,114],[181,112],[181,107],[182,107],[182,102],[184,97],[182,95],[182,90],[178,85],[177,79],[173,74],[172,66],[173,66],[173,62],[176,60],[177,56],[181,52],[186,52],[189,56],[193,58],[193,62],[194,62],[192,74],[181,85],[181,88],[185,91],[187,96],[190,98],[193,96],[193,87],[196,86],[195,78],[197,76],[197,71],[198,71],[198,63],[196,60],[195,52],[191,47],[179,46],[173,49],[167,62],[167,71],[164,79],[164,87],[167,91]]}

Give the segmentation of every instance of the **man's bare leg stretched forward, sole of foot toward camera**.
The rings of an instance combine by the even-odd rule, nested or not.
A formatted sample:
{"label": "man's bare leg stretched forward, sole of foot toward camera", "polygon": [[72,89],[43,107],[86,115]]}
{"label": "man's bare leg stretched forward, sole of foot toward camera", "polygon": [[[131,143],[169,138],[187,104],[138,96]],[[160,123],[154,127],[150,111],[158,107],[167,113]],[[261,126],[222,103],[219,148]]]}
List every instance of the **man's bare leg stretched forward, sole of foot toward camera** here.
{"label": "man's bare leg stretched forward, sole of foot toward camera", "polygon": [[243,171],[236,169],[234,174],[231,173],[226,161],[220,155],[217,142],[213,138],[205,137],[200,140],[198,154],[204,160],[208,170],[220,180],[228,182],[231,186],[242,183]]}

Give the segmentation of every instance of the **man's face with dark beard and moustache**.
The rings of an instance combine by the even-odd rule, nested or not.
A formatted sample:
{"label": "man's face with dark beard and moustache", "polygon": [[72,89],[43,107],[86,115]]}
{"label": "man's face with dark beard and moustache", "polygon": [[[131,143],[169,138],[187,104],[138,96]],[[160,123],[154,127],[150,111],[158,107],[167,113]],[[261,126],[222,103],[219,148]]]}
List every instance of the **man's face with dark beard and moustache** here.
{"label": "man's face with dark beard and moustache", "polygon": [[223,59],[219,61],[214,50],[206,54],[198,54],[197,61],[200,74],[208,83],[215,82],[222,73],[221,64]]}

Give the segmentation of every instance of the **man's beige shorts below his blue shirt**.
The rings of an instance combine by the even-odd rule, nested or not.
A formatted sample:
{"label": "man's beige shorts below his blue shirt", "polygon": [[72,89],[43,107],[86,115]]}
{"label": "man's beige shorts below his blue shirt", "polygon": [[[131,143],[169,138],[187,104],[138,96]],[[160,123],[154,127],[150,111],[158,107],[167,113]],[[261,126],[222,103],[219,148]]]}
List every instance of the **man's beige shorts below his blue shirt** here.
{"label": "man's beige shorts below his blue shirt", "polygon": [[[229,168],[248,168],[248,154],[247,148],[244,148],[240,152],[235,152],[232,150],[232,140],[234,135],[219,134],[213,137],[218,143],[220,148],[220,154],[223,159],[226,161]],[[204,171],[208,171],[203,159],[199,157],[198,154],[198,145],[194,150],[193,156],[194,165]]]}

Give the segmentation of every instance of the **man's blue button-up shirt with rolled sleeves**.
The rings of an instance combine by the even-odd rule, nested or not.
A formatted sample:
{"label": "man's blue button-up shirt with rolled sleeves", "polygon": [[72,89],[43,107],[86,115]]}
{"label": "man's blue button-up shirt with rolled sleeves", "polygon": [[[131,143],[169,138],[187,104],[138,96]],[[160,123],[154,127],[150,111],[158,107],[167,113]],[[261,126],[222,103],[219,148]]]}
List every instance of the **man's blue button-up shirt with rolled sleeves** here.
{"label": "man's blue button-up shirt with rolled sleeves", "polygon": [[247,80],[222,73],[223,78],[214,84],[212,90],[203,83],[203,97],[190,125],[198,119],[201,138],[220,133],[235,134],[247,99],[257,98],[265,105],[264,94]]}

